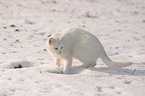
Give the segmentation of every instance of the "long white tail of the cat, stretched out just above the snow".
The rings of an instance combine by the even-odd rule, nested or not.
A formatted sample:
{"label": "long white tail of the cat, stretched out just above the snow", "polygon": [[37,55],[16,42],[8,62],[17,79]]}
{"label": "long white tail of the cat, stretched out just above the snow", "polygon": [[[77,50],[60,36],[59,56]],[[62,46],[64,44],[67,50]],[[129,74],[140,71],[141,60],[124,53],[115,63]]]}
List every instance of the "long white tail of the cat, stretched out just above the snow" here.
{"label": "long white tail of the cat, stretched out just above the snow", "polygon": [[132,62],[115,62],[112,61],[105,52],[103,52],[103,54],[101,54],[101,59],[102,61],[109,67],[113,67],[113,68],[120,68],[120,67],[126,67],[129,65],[132,65]]}

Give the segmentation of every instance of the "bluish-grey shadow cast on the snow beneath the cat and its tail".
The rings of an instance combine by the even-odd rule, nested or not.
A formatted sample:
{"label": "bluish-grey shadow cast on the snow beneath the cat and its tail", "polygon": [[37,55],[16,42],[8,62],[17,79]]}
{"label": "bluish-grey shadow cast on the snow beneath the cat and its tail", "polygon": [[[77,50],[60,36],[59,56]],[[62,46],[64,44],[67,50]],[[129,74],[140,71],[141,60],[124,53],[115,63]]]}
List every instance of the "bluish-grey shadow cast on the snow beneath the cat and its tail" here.
{"label": "bluish-grey shadow cast on the snow beneath the cat and its tail", "polygon": [[[95,71],[95,72],[103,72],[109,74],[118,74],[118,75],[133,75],[133,76],[145,76],[144,70],[133,70],[127,68],[110,68],[110,67],[94,67],[94,68],[73,68],[70,74],[79,74],[85,72],[85,70]],[[133,74],[132,74],[133,73]]]}

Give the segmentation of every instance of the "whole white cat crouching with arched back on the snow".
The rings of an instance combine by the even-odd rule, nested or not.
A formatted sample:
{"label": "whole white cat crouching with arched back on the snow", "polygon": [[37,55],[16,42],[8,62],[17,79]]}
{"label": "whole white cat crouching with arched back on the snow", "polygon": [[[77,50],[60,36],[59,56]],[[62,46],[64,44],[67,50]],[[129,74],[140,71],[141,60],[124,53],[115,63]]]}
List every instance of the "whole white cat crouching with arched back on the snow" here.
{"label": "whole white cat crouching with arched back on the snow", "polygon": [[82,29],[71,28],[54,34],[47,41],[47,48],[55,57],[55,64],[60,66],[63,60],[63,73],[68,74],[72,67],[72,58],[80,60],[83,65],[77,67],[94,67],[100,57],[110,67],[126,67],[131,62],[114,62],[107,56],[98,38]]}

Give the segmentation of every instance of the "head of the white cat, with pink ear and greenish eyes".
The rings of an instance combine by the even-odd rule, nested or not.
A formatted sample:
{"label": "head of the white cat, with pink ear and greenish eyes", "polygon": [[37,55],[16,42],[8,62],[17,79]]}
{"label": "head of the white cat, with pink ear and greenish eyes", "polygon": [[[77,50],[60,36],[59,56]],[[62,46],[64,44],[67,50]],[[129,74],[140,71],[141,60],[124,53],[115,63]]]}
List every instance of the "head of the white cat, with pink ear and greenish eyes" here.
{"label": "head of the white cat, with pink ear and greenish eyes", "polygon": [[49,51],[56,56],[61,55],[64,50],[63,41],[60,38],[49,38],[47,46]]}

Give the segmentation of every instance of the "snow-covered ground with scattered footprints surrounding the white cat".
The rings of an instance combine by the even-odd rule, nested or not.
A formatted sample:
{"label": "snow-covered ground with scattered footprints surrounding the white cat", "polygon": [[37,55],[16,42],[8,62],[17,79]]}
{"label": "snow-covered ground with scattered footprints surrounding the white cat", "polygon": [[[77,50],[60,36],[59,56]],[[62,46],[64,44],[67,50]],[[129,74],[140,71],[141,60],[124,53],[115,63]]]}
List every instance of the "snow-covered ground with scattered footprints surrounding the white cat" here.
{"label": "snow-covered ground with scattered footprints surrounding the white cat", "polygon": [[[59,74],[45,42],[69,27],[95,34],[112,60],[134,64],[113,69],[99,60],[95,68]],[[144,96],[144,90],[144,0],[0,0],[0,96]]]}

